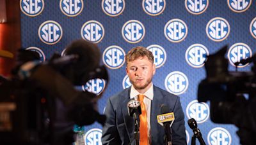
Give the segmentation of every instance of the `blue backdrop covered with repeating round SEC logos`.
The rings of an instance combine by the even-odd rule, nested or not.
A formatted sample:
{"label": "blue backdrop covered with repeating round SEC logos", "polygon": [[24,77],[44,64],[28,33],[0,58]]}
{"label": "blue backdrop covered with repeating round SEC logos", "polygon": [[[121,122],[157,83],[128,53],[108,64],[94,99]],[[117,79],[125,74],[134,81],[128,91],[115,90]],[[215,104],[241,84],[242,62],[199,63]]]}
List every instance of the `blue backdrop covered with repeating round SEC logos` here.
{"label": "blue backdrop covered with repeating round SEC logos", "polygon": [[[207,144],[239,144],[234,125],[212,123],[209,103],[198,103],[198,83],[205,78],[205,56],[228,45],[230,71],[234,62],[255,52],[256,4],[253,0],[20,0],[22,48],[40,53],[42,61],[62,53],[74,39],[97,43],[109,84],[99,100],[131,85],[124,55],[145,46],[155,55],[154,85],[179,95],[185,121],[195,118]],[[252,65],[239,66],[250,71]],[[105,82],[94,79],[80,89],[100,93]],[[157,97],[157,96],[156,96]],[[76,144],[101,144],[102,127],[75,127]],[[187,142],[193,132],[186,124]],[[198,144],[198,142],[197,142]]]}

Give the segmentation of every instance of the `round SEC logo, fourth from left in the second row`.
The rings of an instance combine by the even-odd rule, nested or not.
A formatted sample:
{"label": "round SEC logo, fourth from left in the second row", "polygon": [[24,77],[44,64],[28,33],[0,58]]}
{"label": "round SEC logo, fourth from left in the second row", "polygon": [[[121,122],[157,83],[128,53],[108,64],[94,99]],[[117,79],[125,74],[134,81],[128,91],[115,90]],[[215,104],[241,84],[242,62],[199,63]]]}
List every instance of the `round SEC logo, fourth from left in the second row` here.
{"label": "round SEC logo, fourth from left in the second row", "polygon": [[184,40],[188,34],[186,23],[178,18],[172,19],[164,26],[164,36],[173,43]]}

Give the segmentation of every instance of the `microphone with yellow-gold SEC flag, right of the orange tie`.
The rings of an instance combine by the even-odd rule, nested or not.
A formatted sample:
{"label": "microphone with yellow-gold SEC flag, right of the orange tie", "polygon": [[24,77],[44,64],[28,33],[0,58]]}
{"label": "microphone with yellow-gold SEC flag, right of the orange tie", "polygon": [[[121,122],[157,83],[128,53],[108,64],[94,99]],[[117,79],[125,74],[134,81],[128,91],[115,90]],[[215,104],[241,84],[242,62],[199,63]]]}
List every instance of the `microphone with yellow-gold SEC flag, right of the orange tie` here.
{"label": "microphone with yellow-gold SEC flag, right of the orange tie", "polygon": [[165,144],[172,145],[172,124],[175,120],[174,113],[170,113],[170,109],[167,106],[161,107],[161,114],[157,115],[157,122],[164,127],[164,132],[166,134]]}

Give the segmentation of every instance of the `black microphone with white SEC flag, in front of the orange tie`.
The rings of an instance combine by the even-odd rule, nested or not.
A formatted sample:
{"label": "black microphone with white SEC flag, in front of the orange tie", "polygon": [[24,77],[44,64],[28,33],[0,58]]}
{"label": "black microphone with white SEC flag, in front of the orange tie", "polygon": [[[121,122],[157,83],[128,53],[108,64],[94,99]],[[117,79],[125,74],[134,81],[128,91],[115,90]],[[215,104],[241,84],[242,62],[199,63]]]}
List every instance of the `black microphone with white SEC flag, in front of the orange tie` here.
{"label": "black microphone with white SEC flag, in front of the orange tie", "polygon": [[135,127],[137,127],[136,131],[140,128],[140,114],[141,114],[141,107],[140,101],[138,100],[130,100],[127,104],[128,107],[128,114],[129,116],[134,118]]}

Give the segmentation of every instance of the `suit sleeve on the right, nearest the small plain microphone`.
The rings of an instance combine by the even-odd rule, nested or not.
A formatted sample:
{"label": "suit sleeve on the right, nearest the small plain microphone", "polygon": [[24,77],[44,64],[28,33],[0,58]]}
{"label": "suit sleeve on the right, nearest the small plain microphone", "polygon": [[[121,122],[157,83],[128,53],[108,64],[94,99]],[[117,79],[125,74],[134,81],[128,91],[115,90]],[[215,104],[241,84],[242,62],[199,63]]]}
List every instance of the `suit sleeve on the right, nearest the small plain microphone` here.
{"label": "suit sleeve on the right, nearest the small plain microphone", "polygon": [[173,107],[173,113],[175,120],[172,125],[172,141],[173,144],[187,144],[184,113],[180,104],[180,99],[177,97],[175,106]]}

